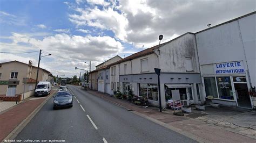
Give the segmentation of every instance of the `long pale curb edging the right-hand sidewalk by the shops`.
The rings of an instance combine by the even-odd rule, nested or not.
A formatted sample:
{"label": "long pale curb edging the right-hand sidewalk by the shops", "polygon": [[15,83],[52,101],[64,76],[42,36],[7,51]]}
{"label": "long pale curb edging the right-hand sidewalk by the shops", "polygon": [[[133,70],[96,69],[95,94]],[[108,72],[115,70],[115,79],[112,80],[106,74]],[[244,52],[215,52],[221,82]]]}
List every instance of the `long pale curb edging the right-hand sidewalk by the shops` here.
{"label": "long pale curb edging the right-hand sidewalk by the shops", "polygon": [[[88,92],[88,93],[89,93],[89,94],[92,94],[92,93],[90,93],[90,92]],[[98,96],[98,95],[96,95],[96,96]],[[117,105],[117,106],[119,106],[119,107],[122,107],[122,108],[124,108],[124,109],[130,111],[130,109],[126,108],[126,107],[123,106],[123,105],[120,105],[120,104],[118,104],[118,103],[115,103],[115,102],[113,102],[113,101],[110,101],[109,99],[106,99],[106,98],[104,98],[104,97],[102,97],[102,96],[98,96],[98,97],[103,98],[103,99],[105,99],[106,101],[108,101],[108,102],[110,102],[110,103],[112,103],[112,104],[115,104],[115,105]],[[207,140],[205,140],[205,139],[203,139],[203,138],[200,138],[200,137],[198,137],[197,135],[191,134],[191,133],[186,132],[186,131],[184,131],[184,130],[181,130],[181,129],[177,128],[177,127],[174,127],[174,126],[171,126],[171,125],[169,125],[169,124],[166,124],[166,123],[164,123],[163,121],[159,121],[159,120],[157,120],[157,119],[154,119],[154,118],[151,118],[151,117],[149,117],[149,116],[146,116],[146,115],[144,115],[143,113],[139,113],[139,112],[137,112],[137,111],[131,111],[131,112],[134,113],[134,114],[136,114],[136,115],[138,115],[138,116],[140,116],[140,117],[143,117],[143,118],[145,118],[145,119],[151,120],[151,121],[153,121],[154,123],[156,123],[156,124],[158,124],[158,125],[161,125],[161,126],[163,126],[163,127],[166,127],[166,128],[168,128],[168,129],[170,129],[170,130],[172,130],[172,131],[174,131],[174,132],[177,132],[177,133],[179,133],[179,134],[182,134],[182,135],[184,135],[184,136],[186,136],[186,137],[188,137],[188,138],[190,138],[190,139],[193,139],[193,140],[195,140],[195,141],[198,141],[198,142],[208,142]]]}

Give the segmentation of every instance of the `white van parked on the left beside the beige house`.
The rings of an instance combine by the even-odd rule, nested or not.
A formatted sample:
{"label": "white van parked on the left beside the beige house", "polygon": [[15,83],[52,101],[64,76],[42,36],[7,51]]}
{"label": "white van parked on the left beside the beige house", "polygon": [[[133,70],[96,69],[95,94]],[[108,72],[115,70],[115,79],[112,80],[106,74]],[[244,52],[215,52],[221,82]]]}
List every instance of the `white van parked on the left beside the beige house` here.
{"label": "white van parked on the left beside the beige house", "polygon": [[35,97],[47,96],[51,93],[51,82],[39,82],[35,90]]}

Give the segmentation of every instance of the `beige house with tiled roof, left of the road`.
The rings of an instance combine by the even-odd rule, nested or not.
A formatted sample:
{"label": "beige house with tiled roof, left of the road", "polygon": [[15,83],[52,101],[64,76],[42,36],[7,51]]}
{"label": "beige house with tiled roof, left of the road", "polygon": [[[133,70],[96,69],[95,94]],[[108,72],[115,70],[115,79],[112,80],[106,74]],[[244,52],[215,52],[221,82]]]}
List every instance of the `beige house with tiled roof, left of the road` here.
{"label": "beige house with tiled roof, left of the road", "polygon": [[[0,96],[15,96],[24,92],[23,78],[27,78],[25,92],[32,96],[36,84],[37,67],[32,66],[32,61],[23,63],[10,61],[0,63]],[[38,81],[51,81],[51,73],[39,68]]]}

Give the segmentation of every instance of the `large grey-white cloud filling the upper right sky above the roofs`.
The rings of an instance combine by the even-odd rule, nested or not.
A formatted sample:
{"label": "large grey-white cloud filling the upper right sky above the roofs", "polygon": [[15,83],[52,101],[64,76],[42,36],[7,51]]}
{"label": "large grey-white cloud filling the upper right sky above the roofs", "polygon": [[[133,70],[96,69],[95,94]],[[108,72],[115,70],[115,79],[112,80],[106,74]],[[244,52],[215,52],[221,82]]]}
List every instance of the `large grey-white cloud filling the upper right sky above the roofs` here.
{"label": "large grey-white cloud filling the upper right sky above the roofs", "polygon": [[[100,2],[91,3],[102,5]],[[77,6],[73,8],[76,13],[69,15],[70,21],[78,27],[111,30],[115,38],[140,48],[156,45],[160,34],[164,35],[164,40],[170,39],[173,35],[203,30],[208,23],[217,25],[255,11],[253,0],[119,0],[107,3],[100,9],[93,4],[89,8]]]}

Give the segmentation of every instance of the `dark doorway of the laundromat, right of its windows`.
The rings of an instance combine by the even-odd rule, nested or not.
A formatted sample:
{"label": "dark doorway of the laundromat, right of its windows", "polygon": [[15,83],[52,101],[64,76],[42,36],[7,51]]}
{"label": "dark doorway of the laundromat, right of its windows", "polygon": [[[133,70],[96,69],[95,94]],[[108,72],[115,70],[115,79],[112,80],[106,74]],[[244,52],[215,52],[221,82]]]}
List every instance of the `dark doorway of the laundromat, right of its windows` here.
{"label": "dark doorway of the laundromat, right of its windows", "polygon": [[234,83],[237,104],[241,108],[252,108],[250,95],[246,83]]}

